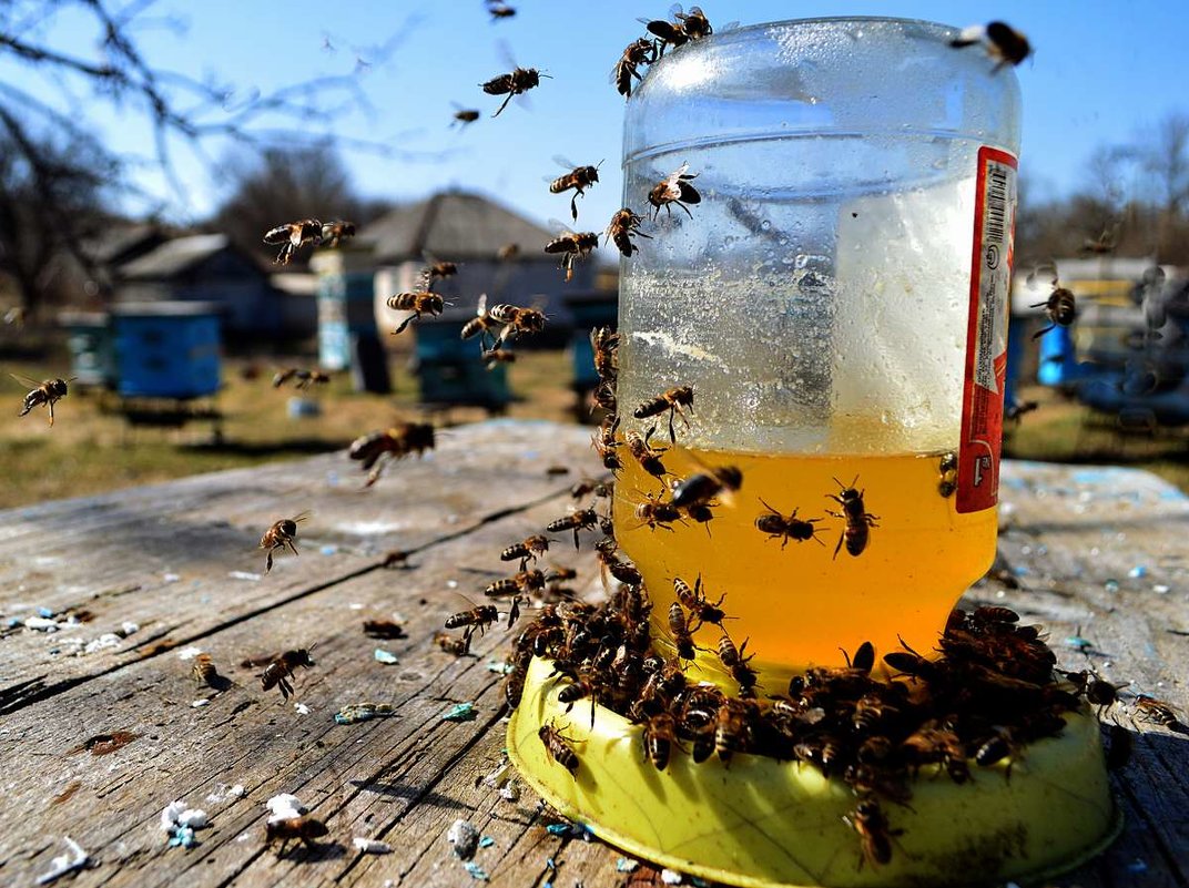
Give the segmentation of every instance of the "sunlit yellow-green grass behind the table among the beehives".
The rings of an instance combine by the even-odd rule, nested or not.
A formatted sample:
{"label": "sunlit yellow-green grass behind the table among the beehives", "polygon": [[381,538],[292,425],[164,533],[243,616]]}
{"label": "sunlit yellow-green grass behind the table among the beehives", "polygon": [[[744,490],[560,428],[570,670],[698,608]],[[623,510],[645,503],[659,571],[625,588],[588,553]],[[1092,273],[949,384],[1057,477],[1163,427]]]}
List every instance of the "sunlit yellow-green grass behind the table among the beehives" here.
{"label": "sunlit yellow-green grass behind the table among the beehives", "polygon": [[[419,416],[414,380],[404,369],[407,358],[394,355],[390,364],[396,388],[392,395],[357,393],[350,377],[338,374],[314,395],[321,403],[321,415],[302,418],[287,415],[292,390],[271,386],[273,365],[259,366],[259,376],[251,379],[245,372],[251,365],[226,360],[225,388],[214,402],[225,415],[221,445],[213,442],[212,426],[205,422],[182,429],[128,428],[120,416],[102,409],[102,396],[75,388],[58,403],[52,429],[44,408],[18,418],[25,389],[5,374],[0,392],[11,409],[0,409],[0,466],[5,480],[0,485],[0,508],[346,447],[358,435],[392,420]],[[300,366],[310,363],[294,361]],[[2,370],[33,378],[69,372],[64,360],[5,361]],[[570,357],[565,352],[521,353],[509,367],[509,382],[518,399],[510,404],[508,415],[572,422],[574,396],[559,384],[570,378]],[[1185,432],[1124,434],[1050,389],[1028,389],[1021,397],[1040,402],[1040,408],[1027,414],[1019,426],[1008,423],[1005,455],[1057,462],[1121,462],[1152,471],[1189,490]],[[479,409],[457,408],[439,422],[470,422],[484,416]]]}

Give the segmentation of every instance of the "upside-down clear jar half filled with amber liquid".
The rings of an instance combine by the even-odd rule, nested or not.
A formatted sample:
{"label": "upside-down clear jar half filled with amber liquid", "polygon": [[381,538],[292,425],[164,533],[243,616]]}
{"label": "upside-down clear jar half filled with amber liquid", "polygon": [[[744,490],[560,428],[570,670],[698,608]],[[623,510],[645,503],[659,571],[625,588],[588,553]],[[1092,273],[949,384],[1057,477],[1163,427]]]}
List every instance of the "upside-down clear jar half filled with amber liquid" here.
{"label": "upside-down clear jar half filled with amber liquid", "polygon": [[[864,641],[886,653],[898,635],[927,651],[990,565],[1020,99],[956,33],[738,29],[667,53],[628,103],[624,206],[653,209],[682,163],[702,200],[660,208],[622,262],[622,432],[655,423],[668,445],[667,417],[634,408],[690,385],[666,468],[743,474],[710,522],[669,533],[635,516],[665,483],[623,448],[616,533],[658,635],[673,579],[700,577],[766,669],[839,663]],[[862,547],[829,514],[851,486],[872,516]],[[794,510],[813,539],[755,524]]]}

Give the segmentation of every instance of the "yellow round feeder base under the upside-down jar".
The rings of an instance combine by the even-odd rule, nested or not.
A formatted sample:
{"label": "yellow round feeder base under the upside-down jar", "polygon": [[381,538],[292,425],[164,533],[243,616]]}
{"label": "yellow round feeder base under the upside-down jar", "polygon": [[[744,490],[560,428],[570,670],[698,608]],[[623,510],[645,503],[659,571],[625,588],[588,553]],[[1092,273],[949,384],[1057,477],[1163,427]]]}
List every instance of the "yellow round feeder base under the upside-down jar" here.
{"label": "yellow round feeder base under the upside-down jar", "polygon": [[[744,888],[954,886],[1044,878],[1072,869],[1119,835],[1099,736],[1088,712],[1067,713],[1059,737],[1006,762],[970,763],[954,783],[936,766],[912,782],[911,808],[881,801],[892,859],[863,861],[842,819],[856,804],[841,780],[799,762],[736,755],[697,764],[673,749],[658,772],[642,728],[581,700],[567,713],[548,661],[534,659],[508,725],[508,755],[524,780],[565,817],[637,857]],[[553,723],[580,764],[554,762],[537,731]]]}

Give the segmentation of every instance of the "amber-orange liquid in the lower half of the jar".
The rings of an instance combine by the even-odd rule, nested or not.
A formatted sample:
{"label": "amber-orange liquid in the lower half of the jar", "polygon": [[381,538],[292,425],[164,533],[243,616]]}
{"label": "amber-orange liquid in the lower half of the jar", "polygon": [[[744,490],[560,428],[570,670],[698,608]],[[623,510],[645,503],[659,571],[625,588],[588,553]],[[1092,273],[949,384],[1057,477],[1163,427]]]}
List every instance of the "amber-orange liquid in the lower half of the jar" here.
{"label": "amber-orange liquid in the lower half of the jar", "polygon": [[[842,666],[839,648],[853,653],[864,641],[879,656],[899,648],[898,636],[931,651],[950,610],[995,555],[995,509],[960,515],[954,497],[938,492],[939,454],[763,456],[674,447],[663,462],[678,477],[734,465],[743,484],[715,506],[707,524],[686,521],[672,530],[650,529],[635,516],[636,505],[662,487],[625,448],[623,455],[616,537],[644,577],[654,637],[661,647],[671,637],[673,578],[692,586],[700,574],[711,602],[726,594],[722,606],[735,619],[724,625],[736,643],[748,640],[768,693],[781,691],[787,675],[806,666]],[[826,515],[842,511],[828,495],[839,492],[835,478],[849,485],[856,474],[855,486],[866,491],[867,511],[877,516],[879,527],[870,528],[861,554],[850,555],[843,542],[835,556],[844,522]],[[768,511],[761,498],[785,517],[795,508],[798,518],[822,518],[817,539],[788,540],[781,548],[782,540],[755,527]],[[719,678],[713,674],[719,637],[711,625],[694,634],[704,648],[698,667],[710,679]]]}

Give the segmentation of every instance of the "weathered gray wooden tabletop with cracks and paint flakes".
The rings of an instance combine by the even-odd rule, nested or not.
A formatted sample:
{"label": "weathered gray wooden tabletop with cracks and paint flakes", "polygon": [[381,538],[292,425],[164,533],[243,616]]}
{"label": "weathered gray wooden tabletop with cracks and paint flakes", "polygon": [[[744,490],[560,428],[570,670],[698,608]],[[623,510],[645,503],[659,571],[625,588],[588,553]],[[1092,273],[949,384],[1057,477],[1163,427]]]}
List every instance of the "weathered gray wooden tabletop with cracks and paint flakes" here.
{"label": "weathered gray wooden tabletop with cracks and paint flakes", "polygon": [[[570,474],[547,471],[562,465]],[[547,831],[530,792],[511,802],[477,782],[501,760],[503,630],[471,657],[432,642],[467,606],[460,594],[482,599],[507,575],[501,549],[564,515],[571,484],[597,468],[589,429],[489,422],[448,430],[367,492],[340,453],[0,512],[0,883],[33,884],[69,836],[90,859],[59,883],[463,886],[473,876],[446,840],[459,818],[493,839],[474,863],[495,884],[640,880],[643,868],[617,871],[615,849]],[[1001,555],[1020,588],[987,580],[971,603],[1044,623],[1064,668],[1093,666],[1184,711],[1189,500],[1143,472],[1032,464],[1006,466],[1002,495]],[[260,534],[306,509],[301,558],[281,554],[263,575]],[[383,566],[392,549],[405,566]],[[548,560],[600,586],[587,547]],[[39,609],[86,622],[12,625],[36,625]],[[407,638],[364,636],[364,619],[394,615]],[[119,638],[126,623],[136,631]],[[308,712],[239,666],[315,642],[296,686]],[[234,684],[197,686],[181,656],[191,647]],[[400,662],[377,662],[377,647]],[[397,714],[335,724],[360,701]],[[458,703],[478,717],[442,720]],[[1115,714],[1131,726],[1126,705]],[[1115,779],[1122,838],[1058,884],[1187,884],[1189,739],[1141,728]],[[264,848],[263,805],[282,792],[328,825],[319,852]],[[166,845],[161,812],[175,800],[210,817],[193,848]],[[354,837],[392,852],[361,854]]]}

